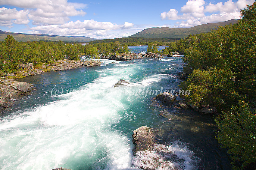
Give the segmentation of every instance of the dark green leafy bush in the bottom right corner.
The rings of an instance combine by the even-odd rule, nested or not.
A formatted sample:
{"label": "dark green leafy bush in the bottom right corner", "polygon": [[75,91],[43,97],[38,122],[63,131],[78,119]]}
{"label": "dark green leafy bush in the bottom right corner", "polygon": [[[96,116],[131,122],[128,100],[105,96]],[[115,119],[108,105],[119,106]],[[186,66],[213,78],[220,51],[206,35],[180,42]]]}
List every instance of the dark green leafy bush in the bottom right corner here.
{"label": "dark green leafy bush in the bottom right corner", "polygon": [[215,120],[219,131],[216,139],[228,148],[234,170],[252,168],[256,163],[256,111],[240,103]]}

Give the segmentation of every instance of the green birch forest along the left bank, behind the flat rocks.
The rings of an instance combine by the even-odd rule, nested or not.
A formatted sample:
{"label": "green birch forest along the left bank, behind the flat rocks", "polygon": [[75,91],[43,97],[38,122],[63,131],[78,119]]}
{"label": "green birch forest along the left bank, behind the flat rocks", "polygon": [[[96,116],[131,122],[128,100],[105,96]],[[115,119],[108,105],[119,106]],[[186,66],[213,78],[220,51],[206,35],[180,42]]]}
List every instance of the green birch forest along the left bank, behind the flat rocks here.
{"label": "green birch forest along the left bank, behind the flat rocks", "polygon": [[80,55],[89,55],[94,58],[98,54],[118,55],[128,52],[127,44],[121,44],[119,41],[86,45],[64,44],[62,41],[17,42],[11,35],[8,35],[4,42],[0,42],[0,70],[12,73],[19,70],[18,65],[21,63],[37,65],[43,62],[55,63],[65,58],[79,60]]}

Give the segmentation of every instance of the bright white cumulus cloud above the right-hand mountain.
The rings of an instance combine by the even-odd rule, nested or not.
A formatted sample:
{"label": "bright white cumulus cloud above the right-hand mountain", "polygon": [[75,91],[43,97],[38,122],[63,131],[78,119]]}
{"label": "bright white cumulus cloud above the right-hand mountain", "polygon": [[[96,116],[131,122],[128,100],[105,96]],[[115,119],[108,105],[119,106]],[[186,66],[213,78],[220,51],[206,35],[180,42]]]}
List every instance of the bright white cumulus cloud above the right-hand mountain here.
{"label": "bright white cumulus cloud above the right-hand mountain", "polygon": [[[180,13],[175,9],[170,9],[168,12],[161,13],[160,16],[161,19],[183,20],[174,27],[188,28],[210,22],[239,19],[240,10],[253,3],[254,0],[238,0],[236,2],[228,0],[224,3],[206,4],[204,0],[188,0],[186,5],[181,7]],[[210,14],[206,15],[205,13]]]}

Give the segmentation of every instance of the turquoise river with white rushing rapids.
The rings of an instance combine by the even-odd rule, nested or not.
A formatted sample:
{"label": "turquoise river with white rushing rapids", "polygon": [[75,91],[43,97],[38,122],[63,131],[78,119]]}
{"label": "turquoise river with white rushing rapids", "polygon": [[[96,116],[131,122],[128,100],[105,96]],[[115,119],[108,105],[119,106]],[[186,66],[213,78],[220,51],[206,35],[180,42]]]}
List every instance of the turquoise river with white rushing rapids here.
{"label": "turquoise river with white rushing rapids", "polygon": [[[155,153],[132,154],[132,132],[145,125],[161,129],[164,147],[184,160],[168,166],[158,162],[158,169],[230,169],[226,152],[214,139],[211,116],[170,107],[169,118],[163,118],[159,113],[164,109],[152,106],[155,91],[178,89],[182,60],[100,59],[100,67],[21,79],[37,89],[1,116],[0,168],[136,169],[142,162],[152,168],[147,161],[155,160]],[[131,84],[114,88],[120,79]]]}

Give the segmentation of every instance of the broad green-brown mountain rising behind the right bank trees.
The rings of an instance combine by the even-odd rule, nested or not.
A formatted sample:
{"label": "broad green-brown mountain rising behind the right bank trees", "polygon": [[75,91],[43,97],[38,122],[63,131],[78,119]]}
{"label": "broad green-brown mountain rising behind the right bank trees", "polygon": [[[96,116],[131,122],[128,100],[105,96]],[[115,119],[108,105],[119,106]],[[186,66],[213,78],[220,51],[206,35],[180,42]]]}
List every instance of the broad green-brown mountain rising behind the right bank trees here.
{"label": "broad green-brown mountain rising behind the right bank trees", "polygon": [[228,24],[235,24],[239,19],[231,19],[224,22],[208,23],[197,25],[191,28],[147,28],[129,37],[144,37],[144,38],[184,38],[189,34],[199,34],[201,32],[209,32],[212,29],[219,26],[225,26]]}

